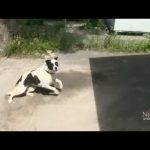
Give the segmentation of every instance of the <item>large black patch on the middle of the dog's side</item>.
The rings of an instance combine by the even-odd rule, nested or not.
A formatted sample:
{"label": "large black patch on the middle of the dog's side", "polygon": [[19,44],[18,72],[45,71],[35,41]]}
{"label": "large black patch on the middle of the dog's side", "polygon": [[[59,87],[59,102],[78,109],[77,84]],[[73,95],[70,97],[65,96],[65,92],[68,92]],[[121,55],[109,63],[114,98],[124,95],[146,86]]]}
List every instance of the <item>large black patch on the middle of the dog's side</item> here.
{"label": "large black patch on the middle of the dog's side", "polygon": [[36,75],[33,77],[31,73],[29,73],[26,79],[24,80],[25,86],[38,85],[39,83],[40,83],[39,78]]}

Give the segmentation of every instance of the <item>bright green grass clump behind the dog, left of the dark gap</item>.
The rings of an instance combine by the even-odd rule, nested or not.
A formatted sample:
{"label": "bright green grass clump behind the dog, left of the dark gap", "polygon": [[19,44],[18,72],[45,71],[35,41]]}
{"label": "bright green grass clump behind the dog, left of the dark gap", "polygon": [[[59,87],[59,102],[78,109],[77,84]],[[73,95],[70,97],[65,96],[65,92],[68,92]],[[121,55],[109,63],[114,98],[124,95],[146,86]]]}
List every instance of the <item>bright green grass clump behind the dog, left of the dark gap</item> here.
{"label": "bright green grass clump behind the dog, left of the dark gap", "polygon": [[40,56],[46,53],[46,50],[58,51],[59,45],[55,41],[41,40],[38,38],[34,39],[24,39],[24,38],[14,38],[8,42],[5,47],[4,56],[17,56],[17,55],[32,55]]}

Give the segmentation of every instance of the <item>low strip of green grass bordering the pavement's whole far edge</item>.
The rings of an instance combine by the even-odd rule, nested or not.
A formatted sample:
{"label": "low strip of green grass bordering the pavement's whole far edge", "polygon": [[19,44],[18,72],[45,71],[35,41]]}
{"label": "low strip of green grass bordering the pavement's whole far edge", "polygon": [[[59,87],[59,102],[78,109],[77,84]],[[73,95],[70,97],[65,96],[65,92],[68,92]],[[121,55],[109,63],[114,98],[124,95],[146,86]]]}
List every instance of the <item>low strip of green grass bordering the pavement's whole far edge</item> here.
{"label": "low strip of green grass bordering the pavement's whole far edge", "polygon": [[46,50],[71,52],[74,50],[91,49],[109,52],[150,52],[150,40],[123,40],[116,35],[77,36],[71,33],[58,34],[53,38],[22,38],[11,39],[3,52],[4,56],[40,57]]}

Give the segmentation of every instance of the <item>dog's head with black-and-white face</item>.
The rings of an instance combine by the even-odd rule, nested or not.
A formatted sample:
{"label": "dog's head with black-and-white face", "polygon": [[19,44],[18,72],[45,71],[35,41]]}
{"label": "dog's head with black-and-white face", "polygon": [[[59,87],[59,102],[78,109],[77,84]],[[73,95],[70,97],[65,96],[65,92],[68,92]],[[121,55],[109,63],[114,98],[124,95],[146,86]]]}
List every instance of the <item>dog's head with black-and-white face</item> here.
{"label": "dog's head with black-and-white face", "polygon": [[47,69],[51,73],[55,73],[58,70],[58,56],[54,53],[50,53],[49,55],[45,56],[45,63]]}

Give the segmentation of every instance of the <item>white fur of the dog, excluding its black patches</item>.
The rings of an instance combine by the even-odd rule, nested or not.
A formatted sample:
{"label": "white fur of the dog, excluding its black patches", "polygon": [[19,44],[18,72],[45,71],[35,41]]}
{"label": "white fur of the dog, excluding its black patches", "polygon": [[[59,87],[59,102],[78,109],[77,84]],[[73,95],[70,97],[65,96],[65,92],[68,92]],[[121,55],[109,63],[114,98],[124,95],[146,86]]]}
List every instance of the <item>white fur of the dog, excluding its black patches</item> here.
{"label": "white fur of the dog, excluding its black patches", "polygon": [[[48,57],[46,58],[46,60],[48,59]],[[51,62],[53,63],[53,70],[55,67],[57,67],[55,65],[55,62],[56,60],[54,58],[50,58],[51,59]],[[32,74],[32,76],[34,77],[35,75],[38,77],[38,79],[40,80],[40,84],[38,84],[39,87],[43,87],[43,88],[46,88],[46,89],[49,89],[49,90],[52,90],[54,92],[54,94],[58,95],[59,94],[59,91],[53,87],[53,86],[50,86],[53,82],[53,74],[56,72],[56,71],[53,71],[53,70],[49,70],[46,63],[44,62],[44,64],[39,67],[38,69],[34,70],[34,71],[31,71],[31,72],[26,72],[22,75],[22,80],[21,82],[19,82],[15,87],[14,89],[7,93],[7,95],[9,95],[9,99],[8,99],[8,103],[11,103],[13,102],[13,97],[14,96],[17,96],[17,95],[20,95],[20,94],[23,94],[23,93],[26,93],[27,95],[29,96],[34,96],[34,93],[31,93],[31,92],[34,92],[35,88],[34,87],[27,87],[27,86],[24,86],[24,80],[26,79],[26,77],[28,76],[29,73]],[[47,73],[49,72],[49,73]],[[55,79],[55,82],[58,83],[59,85],[59,89],[62,90],[63,89],[63,84],[61,82],[61,80],[59,79]]]}

